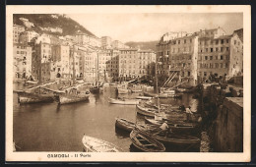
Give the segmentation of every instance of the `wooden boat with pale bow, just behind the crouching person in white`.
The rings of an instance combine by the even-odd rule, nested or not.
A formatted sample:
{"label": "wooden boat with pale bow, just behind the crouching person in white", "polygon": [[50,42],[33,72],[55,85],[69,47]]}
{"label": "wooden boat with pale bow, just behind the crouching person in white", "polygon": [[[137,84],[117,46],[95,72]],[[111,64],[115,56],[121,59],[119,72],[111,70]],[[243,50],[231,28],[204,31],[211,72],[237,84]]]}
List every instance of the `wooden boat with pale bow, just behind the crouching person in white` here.
{"label": "wooden boat with pale bow, just behind the crouching person in white", "polygon": [[[166,121],[166,119],[159,121],[159,120],[150,119],[150,118],[145,117],[145,121],[146,121],[146,123],[153,124],[153,125],[160,127],[160,125],[163,124],[163,122]],[[169,121],[168,120],[167,125],[173,132],[188,132],[188,131],[192,131],[197,128],[197,124],[186,123],[183,121]]]}

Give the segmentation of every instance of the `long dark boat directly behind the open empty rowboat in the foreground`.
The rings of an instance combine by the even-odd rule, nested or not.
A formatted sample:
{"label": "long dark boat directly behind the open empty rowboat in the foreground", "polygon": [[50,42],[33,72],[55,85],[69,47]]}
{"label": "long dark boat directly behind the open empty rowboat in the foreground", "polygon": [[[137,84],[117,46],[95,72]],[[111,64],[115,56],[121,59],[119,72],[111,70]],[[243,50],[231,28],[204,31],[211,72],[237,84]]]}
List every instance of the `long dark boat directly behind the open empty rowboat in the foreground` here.
{"label": "long dark boat directly behind the open empty rowboat in the foreground", "polygon": [[158,139],[160,142],[164,143],[164,145],[197,145],[200,146],[201,140],[192,137],[192,136],[186,136],[186,135],[178,135],[173,134],[170,132],[162,132],[157,130],[148,130],[148,131],[141,131],[141,134],[148,135],[153,137],[154,139]]}

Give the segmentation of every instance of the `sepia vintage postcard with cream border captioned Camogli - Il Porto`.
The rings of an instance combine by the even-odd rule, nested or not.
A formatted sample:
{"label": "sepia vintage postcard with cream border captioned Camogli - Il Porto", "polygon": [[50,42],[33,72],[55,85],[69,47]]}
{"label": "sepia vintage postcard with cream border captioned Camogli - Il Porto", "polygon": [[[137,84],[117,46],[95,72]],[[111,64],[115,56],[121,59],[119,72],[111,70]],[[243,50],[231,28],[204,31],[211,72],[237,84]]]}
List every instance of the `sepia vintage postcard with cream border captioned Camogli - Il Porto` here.
{"label": "sepia vintage postcard with cream border captioned Camogli - Il Porto", "polygon": [[6,7],[6,161],[249,162],[249,5]]}

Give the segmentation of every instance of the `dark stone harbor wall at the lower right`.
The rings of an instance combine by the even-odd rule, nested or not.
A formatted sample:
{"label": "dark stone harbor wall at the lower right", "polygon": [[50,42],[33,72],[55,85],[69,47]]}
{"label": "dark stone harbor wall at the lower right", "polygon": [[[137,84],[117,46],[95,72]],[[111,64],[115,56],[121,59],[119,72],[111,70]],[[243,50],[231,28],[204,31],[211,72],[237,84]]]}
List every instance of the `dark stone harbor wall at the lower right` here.
{"label": "dark stone harbor wall at the lower right", "polygon": [[229,84],[202,84],[202,111],[215,152],[243,151],[243,90]]}

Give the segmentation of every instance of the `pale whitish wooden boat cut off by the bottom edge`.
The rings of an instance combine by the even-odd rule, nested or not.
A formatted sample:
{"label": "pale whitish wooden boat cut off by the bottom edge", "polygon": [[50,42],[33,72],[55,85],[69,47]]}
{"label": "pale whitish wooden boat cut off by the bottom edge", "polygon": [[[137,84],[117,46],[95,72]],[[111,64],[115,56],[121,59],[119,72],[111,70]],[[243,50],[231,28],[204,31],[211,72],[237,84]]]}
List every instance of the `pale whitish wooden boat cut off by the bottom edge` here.
{"label": "pale whitish wooden boat cut off by the bottom edge", "polygon": [[123,152],[123,149],[102,139],[85,136],[82,139],[86,152]]}

